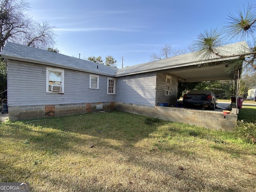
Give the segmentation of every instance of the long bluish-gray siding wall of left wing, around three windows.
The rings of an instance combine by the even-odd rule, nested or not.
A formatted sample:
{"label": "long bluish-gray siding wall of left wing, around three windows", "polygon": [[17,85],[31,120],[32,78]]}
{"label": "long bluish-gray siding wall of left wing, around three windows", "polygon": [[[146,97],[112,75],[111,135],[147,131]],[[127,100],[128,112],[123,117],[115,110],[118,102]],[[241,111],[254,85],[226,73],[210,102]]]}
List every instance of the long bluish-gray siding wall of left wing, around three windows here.
{"label": "long bluish-gray siding wall of left wing, around three windows", "polygon": [[90,89],[90,74],[64,69],[64,94],[46,93],[46,66],[8,61],[8,106],[113,102],[107,94],[107,76],[99,76],[99,89]]}

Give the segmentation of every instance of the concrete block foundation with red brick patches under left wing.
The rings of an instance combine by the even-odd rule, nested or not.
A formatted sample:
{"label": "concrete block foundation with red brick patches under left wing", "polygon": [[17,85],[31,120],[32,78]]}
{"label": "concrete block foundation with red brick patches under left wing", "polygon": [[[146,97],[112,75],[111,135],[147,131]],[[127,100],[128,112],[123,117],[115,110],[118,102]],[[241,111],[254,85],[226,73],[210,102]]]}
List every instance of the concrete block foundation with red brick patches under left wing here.
{"label": "concrete block foundation with red brick patches under left wing", "polygon": [[[100,106],[100,107],[97,107]],[[57,117],[74,114],[96,112],[99,110],[113,110],[114,102],[102,103],[75,103],[56,105],[14,106],[8,107],[9,120],[17,121],[24,119]]]}

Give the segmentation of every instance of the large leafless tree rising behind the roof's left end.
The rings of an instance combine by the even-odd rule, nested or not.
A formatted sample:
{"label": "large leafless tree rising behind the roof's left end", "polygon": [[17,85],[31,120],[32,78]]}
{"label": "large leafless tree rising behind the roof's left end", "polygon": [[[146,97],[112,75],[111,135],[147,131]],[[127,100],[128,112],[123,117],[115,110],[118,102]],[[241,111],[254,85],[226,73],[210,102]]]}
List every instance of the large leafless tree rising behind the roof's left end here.
{"label": "large leafless tree rising behind the roof's left end", "polygon": [[0,0],[0,51],[8,40],[42,49],[54,46],[54,27],[33,21],[29,9],[25,0]]}

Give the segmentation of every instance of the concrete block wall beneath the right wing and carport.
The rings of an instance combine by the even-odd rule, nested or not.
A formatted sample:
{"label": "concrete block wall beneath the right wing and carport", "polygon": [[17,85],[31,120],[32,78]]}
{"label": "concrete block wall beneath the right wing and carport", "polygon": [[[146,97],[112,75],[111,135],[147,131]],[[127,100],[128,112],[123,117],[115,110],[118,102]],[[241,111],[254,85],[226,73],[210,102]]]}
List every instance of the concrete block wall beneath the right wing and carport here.
{"label": "concrete block wall beneath the right wing and carport", "polygon": [[215,130],[233,130],[236,127],[237,122],[237,115],[227,114],[226,118],[224,118],[222,112],[177,107],[140,106],[137,104],[126,104],[121,102],[116,102],[115,107],[120,111],[151,116],[173,122],[193,124]]}

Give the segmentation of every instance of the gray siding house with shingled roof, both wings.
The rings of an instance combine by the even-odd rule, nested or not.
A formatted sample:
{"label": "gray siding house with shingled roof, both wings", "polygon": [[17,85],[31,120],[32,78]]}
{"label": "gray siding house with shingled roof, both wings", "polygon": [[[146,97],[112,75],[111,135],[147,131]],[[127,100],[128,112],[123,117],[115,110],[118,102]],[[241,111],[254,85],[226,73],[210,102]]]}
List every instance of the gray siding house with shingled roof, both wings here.
{"label": "gray siding house with shingled roof, both wings", "polygon": [[[247,48],[245,42],[239,42],[223,46],[220,52],[241,54]],[[228,73],[225,68],[238,59],[213,57],[205,61],[189,53],[117,69],[11,42],[1,56],[8,60],[11,121],[114,108],[173,120],[165,112],[158,114],[163,107],[157,104],[175,105],[178,81],[234,79],[236,72]],[[207,68],[198,67],[205,62]]]}

